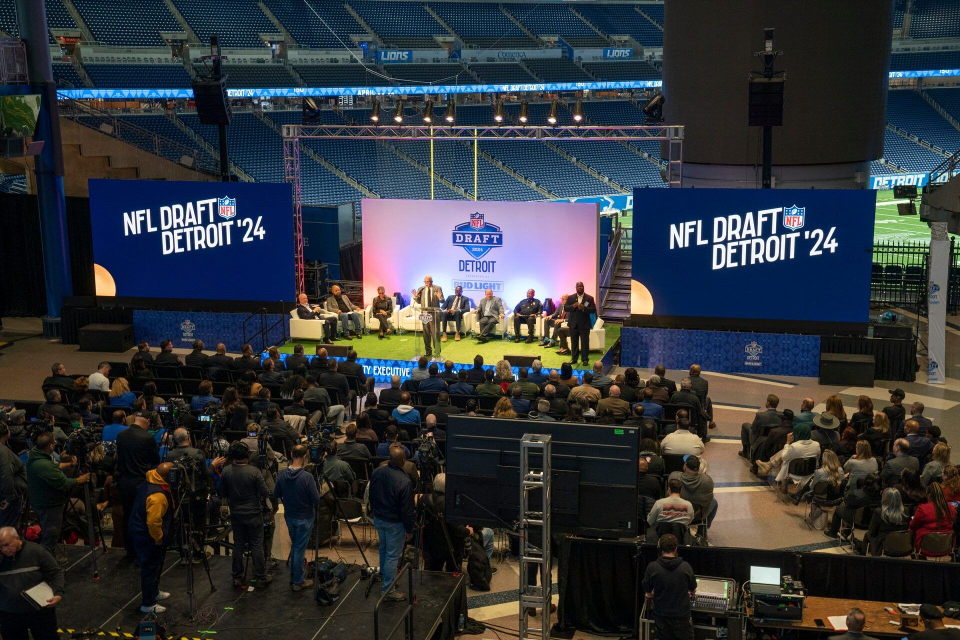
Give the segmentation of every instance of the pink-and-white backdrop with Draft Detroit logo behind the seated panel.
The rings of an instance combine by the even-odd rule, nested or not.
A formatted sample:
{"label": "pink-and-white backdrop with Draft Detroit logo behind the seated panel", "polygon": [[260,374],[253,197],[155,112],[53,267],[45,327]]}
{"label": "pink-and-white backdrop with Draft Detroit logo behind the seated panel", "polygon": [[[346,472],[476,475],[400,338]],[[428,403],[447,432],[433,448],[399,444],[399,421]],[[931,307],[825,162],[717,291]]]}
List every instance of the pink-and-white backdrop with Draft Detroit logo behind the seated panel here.
{"label": "pink-and-white backdrop with Draft Detroit logo behind the seated panel", "polygon": [[409,298],[424,275],[444,296],[492,289],[508,311],[527,289],[559,301],[578,280],[596,297],[596,203],[364,200],[363,217],[368,298],[380,285]]}

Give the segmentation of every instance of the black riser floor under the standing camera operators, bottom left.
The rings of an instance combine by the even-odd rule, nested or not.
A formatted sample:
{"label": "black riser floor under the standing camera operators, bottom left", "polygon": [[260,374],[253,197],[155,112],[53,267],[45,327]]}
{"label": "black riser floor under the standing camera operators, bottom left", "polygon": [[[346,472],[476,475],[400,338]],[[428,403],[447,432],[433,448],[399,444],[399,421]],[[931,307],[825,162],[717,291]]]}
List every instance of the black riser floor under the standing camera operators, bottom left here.
{"label": "black riser floor under the standing camera operators, bottom left", "polygon": [[[70,564],[66,571],[66,596],[57,607],[60,632],[74,637],[107,635],[132,637],[140,613],[140,572],[123,559],[122,549],[110,549],[104,556],[97,552],[100,580],[93,581],[89,547],[66,548]],[[203,622],[190,622],[186,594],[186,569],[180,558],[168,553],[160,589],[170,598],[163,601],[166,612],[157,620],[166,626],[165,637],[194,640],[217,634],[222,640],[251,637],[251,631],[276,629],[285,637],[369,640],[373,638],[373,606],[380,593],[374,582],[366,595],[369,582],[360,578],[356,565],[349,566],[347,579],[340,584],[340,600],[330,606],[313,601],[312,589],[293,592],[287,584],[287,572],[281,568],[274,581],[263,589],[234,591],[231,587],[230,558],[214,556],[210,575],[217,591],[210,593],[203,565],[194,566],[196,605]],[[282,566],[282,563],[281,563]],[[402,590],[407,590],[405,575]],[[466,579],[464,576],[418,571],[414,574],[414,640],[453,638],[457,622],[467,614]],[[384,602],[380,607],[380,636],[402,617],[406,603]],[[398,630],[402,634],[402,630]],[[396,634],[395,634],[396,636]]]}

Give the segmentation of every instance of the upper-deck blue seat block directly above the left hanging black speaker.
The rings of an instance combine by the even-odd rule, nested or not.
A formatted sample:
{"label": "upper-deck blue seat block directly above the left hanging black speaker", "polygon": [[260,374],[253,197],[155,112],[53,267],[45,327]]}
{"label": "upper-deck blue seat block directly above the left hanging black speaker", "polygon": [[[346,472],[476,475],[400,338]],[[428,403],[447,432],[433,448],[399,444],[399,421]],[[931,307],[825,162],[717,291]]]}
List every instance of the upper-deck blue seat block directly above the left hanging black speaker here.
{"label": "upper-deck blue seat block directly above the left hanging black speaker", "polygon": [[278,31],[254,0],[233,0],[228,6],[216,0],[174,0],[174,5],[204,44],[217,35],[222,47],[264,48],[258,34]]}

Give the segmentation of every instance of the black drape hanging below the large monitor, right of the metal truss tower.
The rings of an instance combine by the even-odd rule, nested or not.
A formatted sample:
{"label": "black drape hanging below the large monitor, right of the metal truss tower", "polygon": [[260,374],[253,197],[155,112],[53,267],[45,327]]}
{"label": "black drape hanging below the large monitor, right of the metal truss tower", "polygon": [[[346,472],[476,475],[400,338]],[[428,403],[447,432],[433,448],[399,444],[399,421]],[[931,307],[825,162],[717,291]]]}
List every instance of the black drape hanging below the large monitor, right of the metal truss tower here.
{"label": "black drape hanging below the large monitor, right of the metal truss tower", "polygon": [[636,624],[637,548],[629,542],[564,537],[557,573],[557,628],[631,635]]}

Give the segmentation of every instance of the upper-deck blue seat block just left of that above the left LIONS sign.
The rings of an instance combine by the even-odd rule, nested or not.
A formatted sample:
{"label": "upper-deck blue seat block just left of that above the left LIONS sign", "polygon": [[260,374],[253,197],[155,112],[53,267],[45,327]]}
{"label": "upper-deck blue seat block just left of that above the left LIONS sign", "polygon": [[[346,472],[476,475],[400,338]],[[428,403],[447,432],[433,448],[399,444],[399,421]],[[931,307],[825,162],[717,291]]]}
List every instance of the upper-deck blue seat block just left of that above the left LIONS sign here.
{"label": "upper-deck blue seat block just left of that above the left LIONS sign", "polygon": [[303,46],[318,49],[352,48],[351,35],[369,36],[367,30],[350,15],[343,2],[264,0],[264,5]]}

